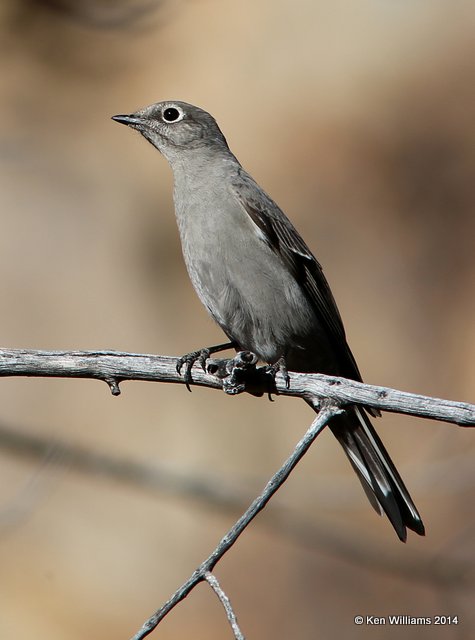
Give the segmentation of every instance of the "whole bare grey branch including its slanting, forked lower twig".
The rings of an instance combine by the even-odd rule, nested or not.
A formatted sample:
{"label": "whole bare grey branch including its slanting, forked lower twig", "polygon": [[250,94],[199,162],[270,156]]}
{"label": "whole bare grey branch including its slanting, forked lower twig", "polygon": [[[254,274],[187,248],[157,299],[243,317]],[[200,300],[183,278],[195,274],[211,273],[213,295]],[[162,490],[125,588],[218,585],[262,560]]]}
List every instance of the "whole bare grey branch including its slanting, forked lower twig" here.
{"label": "whole bare grey branch including its slanting, forked lower twig", "polygon": [[[304,398],[318,414],[311,427],[296,446],[292,455],[267,483],[264,491],[253,501],[222,538],[210,556],[191,577],[158,609],[133,637],[142,640],[160,621],[181,602],[200,582],[207,580],[220,597],[235,637],[243,638],[229,601],[212,575],[214,566],[232,547],[256,515],[288,478],[312,442],[331,418],[353,404],[371,406],[384,411],[411,414],[444,420],[464,426],[475,426],[475,406],[427,396],[376,387],[320,374],[290,374],[290,387],[281,375],[269,375],[266,367],[256,368],[256,358],[240,352],[231,360],[208,360],[206,371],[194,367],[192,384],[223,389],[228,394],[248,391],[256,395],[278,393]],[[31,351],[0,350],[0,376],[75,377],[103,380],[113,395],[120,393],[124,380],[149,380],[184,384],[176,370],[176,358],[115,351]],[[204,360],[202,362],[202,365]],[[189,381],[188,381],[189,382]]]}

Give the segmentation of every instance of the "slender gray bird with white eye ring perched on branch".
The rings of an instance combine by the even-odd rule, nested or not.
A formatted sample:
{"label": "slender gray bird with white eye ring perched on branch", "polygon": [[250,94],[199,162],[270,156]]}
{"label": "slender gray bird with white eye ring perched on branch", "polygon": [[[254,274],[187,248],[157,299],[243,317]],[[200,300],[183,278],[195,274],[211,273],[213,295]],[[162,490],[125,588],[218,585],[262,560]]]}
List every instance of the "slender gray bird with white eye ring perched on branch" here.
{"label": "slender gray bird with white eye ring perched on branch", "polygon": [[[231,153],[214,118],[159,102],[114,120],[139,131],[168,160],[183,256],[208,312],[238,350],[291,371],[361,381],[322,268],[277,204]],[[424,525],[368,415],[355,406],[330,428],[371,504],[397,535]]]}

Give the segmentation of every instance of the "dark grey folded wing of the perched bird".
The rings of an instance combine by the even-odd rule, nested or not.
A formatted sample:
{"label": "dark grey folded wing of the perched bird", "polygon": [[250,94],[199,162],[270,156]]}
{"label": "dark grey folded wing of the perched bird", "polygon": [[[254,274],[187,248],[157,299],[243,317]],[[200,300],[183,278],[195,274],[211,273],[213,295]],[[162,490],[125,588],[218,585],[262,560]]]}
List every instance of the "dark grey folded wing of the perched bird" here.
{"label": "dark grey folded wing of the perched bird", "polygon": [[262,232],[265,242],[280,255],[305,291],[315,314],[326,329],[344,375],[361,380],[358,366],[346,342],[340,312],[322,267],[300,234],[277,204],[243,169],[239,173],[239,182],[232,185],[232,191]]}

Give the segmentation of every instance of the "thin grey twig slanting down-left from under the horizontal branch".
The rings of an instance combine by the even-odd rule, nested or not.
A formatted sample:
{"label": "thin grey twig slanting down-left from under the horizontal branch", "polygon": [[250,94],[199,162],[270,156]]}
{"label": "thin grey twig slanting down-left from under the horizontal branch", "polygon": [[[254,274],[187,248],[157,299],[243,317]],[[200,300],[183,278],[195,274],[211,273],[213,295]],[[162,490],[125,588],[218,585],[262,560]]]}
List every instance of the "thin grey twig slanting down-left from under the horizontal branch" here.
{"label": "thin grey twig slanting down-left from under the horizontal branch", "polygon": [[341,413],[341,409],[335,405],[327,405],[315,417],[304,437],[295,447],[293,453],[287,458],[282,467],[275,473],[266,484],[263,492],[254,500],[247,511],[231,527],[226,535],[221,539],[216,549],[204,562],[193,572],[191,577],[179,587],[172,597],[158,609],[143,624],[142,628],[133,636],[132,640],[143,640],[151,633],[163,618],[196,587],[196,585],[206,579],[206,574],[211,572],[223,555],[233,546],[236,540],[246,527],[252,522],[257,514],[264,509],[274,493],[282,486],[292,473],[299,460],[305,455],[312,442],[318,436],[333,416]]}

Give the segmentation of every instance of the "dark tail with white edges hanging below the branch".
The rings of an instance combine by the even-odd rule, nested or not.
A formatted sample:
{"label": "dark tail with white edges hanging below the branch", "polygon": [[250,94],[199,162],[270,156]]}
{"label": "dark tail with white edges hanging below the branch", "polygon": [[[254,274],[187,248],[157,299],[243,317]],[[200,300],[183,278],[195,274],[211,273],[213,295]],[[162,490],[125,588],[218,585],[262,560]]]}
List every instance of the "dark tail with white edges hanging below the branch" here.
{"label": "dark tail with white edges hanging below the branch", "polygon": [[406,527],[425,533],[421,517],[388,452],[362,407],[336,416],[330,428],[343,447],[374,509],[386,513],[399,539]]}

